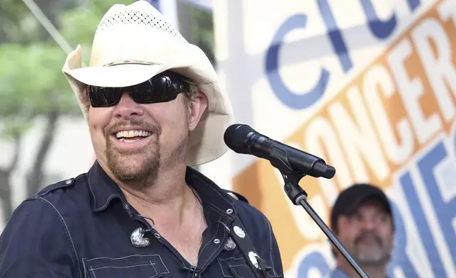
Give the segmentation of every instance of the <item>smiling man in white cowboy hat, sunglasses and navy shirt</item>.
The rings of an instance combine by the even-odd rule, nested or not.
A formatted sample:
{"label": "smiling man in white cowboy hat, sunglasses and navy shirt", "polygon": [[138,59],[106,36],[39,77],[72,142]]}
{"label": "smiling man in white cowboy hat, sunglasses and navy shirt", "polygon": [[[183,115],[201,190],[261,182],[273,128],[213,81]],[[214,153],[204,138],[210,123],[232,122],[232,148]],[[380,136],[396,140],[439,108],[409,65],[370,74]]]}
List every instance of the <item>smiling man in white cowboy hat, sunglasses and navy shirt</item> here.
{"label": "smiling man in white cowboy hat, sunglasses and navy shirt", "polygon": [[283,277],[268,219],[193,165],[227,147],[232,109],[205,54],[146,1],[114,5],[63,72],[96,162],[16,208],[0,277]]}

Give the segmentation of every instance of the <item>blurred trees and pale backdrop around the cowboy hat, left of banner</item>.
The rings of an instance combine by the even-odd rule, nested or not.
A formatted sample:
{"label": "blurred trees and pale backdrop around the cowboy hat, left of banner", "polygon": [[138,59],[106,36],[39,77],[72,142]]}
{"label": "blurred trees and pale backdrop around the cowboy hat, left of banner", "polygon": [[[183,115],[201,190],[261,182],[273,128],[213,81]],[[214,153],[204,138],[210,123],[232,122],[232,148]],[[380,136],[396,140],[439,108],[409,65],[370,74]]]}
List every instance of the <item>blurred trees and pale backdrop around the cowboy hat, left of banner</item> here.
{"label": "blurred trees and pale backdrop around the cowboy hat, left of banner", "polygon": [[[133,1],[0,1],[2,227],[25,196],[86,172],[93,163],[86,123],[62,67],[78,44],[88,65],[103,14],[113,4]],[[158,7],[159,1],[151,4]],[[166,5],[173,24],[215,65],[210,6],[191,1]]]}

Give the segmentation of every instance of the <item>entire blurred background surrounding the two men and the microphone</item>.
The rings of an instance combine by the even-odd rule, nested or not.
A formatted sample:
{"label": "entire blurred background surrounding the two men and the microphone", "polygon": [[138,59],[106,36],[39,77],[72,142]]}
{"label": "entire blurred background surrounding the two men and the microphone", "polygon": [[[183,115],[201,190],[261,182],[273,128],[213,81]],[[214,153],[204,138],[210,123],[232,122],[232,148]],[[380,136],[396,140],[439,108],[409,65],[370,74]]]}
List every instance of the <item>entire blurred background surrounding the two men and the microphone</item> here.
{"label": "entire blurred background surrounding the two men and the microphone", "polygon": [[[0,230],[27,196],[94,155],[62,67],[113,4],[0,0]],[[456,277],[456,0],[149,0],[217,69],[236,123],[324,158],[300,185],[326,223],[338,192],[392,199],[390,277]],[[227,152],[198,169],[270,219],[285,277],[324,277],[331,245],[267,161]]]}

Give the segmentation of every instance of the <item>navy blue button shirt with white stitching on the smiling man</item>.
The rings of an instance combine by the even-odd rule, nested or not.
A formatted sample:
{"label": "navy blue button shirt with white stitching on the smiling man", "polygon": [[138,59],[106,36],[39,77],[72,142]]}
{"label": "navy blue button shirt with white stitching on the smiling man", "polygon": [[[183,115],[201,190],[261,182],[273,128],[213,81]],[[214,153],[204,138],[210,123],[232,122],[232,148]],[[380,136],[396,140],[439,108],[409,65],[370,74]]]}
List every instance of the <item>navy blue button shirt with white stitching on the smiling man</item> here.
{"label": "navy blue button shirt with white stitching on the smiling man", "polygon": [[[186,181],[200,196],[207,229],[192,267],[140,217],[120,188],[95,163],[89,172],[52,184],[14,211],[0,237],[2,278],[253,277],[225,226],[238,217],[271,275],[283,277],[280,253],[266,216],[188,167]],[[149,229],[149,245],[130,235]],[[234,243],[234,244],[233,244]]]}

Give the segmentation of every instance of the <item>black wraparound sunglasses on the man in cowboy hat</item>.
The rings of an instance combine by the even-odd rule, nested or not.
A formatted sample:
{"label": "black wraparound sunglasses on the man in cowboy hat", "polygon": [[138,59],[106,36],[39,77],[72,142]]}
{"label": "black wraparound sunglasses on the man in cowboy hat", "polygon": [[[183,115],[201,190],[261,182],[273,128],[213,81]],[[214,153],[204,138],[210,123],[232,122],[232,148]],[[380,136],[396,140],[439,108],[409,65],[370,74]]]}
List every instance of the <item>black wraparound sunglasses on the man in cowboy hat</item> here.
{"label": "black wraparound sunglasses on the man in cowboy hat", "polygon": [[178,94],[190,91],[188,79],[174,72],[162,72],[151,79],[130,87],[87,86],[92,107],[108,107],[119,104],[122,94],[130,94],[137,104],[156,104],[172,101]]}

